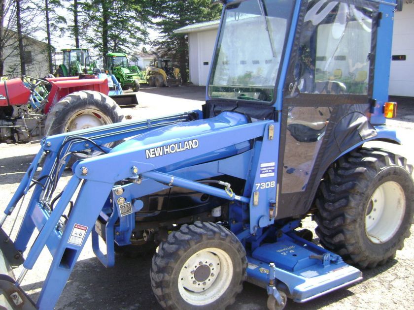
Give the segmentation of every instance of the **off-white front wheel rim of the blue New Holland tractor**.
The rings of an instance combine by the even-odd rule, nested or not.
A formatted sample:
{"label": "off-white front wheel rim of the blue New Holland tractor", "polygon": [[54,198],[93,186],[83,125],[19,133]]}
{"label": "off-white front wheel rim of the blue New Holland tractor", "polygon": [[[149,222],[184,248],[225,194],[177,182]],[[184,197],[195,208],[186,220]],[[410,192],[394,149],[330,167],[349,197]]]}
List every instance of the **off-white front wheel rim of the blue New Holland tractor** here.
{"label": "off-white front wheel rim of the blue New Holland tractor", "polygon": [[219,248],[205,248],[184,263],[178,278],[178,291],[187,303],[203,306],[222,296],[232,278],[230,256]]}

